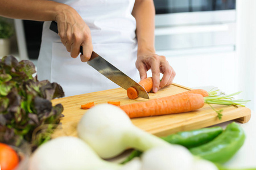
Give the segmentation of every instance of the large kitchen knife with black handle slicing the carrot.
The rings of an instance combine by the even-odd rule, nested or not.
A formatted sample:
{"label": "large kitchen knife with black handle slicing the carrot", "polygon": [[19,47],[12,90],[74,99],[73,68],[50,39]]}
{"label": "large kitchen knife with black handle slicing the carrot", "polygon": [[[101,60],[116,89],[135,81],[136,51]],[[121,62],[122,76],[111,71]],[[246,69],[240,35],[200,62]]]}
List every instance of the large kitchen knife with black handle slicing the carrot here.
{"label": "large kitchen knife with black handle slicing the carrot", "polygon": [[[59,32],[57,29],[57,23],[55,21],[51,23],[49,29],[56,33]],[[80,53],[82,54],[82,46],[80,46]],[[106,76],[106,78],[112,80],[112,82],[114,82],[118,86],[124,88],[125,90],[127,90],[127,88],[129,87],[134,87],[137,90],[139,97],[149,99],[147,91],[141,85],[139,85],[126,74],[122,73],[122,71],[117,69],[117,67],[113,66],[111,63],[106,61],[97,53],[92,52],[92,56],[87,63],[98,72],[100,72],[102,75]]]}

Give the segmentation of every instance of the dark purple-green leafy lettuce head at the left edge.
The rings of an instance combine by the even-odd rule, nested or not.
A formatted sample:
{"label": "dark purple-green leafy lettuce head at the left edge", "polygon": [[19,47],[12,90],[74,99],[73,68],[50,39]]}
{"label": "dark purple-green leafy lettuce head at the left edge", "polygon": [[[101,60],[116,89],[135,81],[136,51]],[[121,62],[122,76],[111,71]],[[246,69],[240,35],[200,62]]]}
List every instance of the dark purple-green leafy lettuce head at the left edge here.
{"label": "dark purple-green leafy lettuce head at the left edge", "polygon": [[13,56],[0,61],[0,141],[30,142],[36,148],[48,141],[63,106],[51,100],[63,97],[62,87],[48,80],[38,81],[31,61],[18,62]]}

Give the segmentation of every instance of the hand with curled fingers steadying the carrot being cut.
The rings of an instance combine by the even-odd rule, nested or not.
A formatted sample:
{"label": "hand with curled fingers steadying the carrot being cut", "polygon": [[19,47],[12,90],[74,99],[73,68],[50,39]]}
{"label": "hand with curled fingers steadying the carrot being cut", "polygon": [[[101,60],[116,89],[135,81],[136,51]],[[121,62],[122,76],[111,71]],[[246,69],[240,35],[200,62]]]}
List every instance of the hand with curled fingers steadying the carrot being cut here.
{"label": "hand with curled fingers steadying the carrot being cut", "polygon": [[[135,63],[139,70],[141,79],[147,78],[147,71],[151,69],[153,79],[153,92],[156,93],[160,88],[169,86],[176,75],[174,69],[169,65],[166,57],[158,56],[155,53],[141,53],[137,56]],[[160,73],[163,78],[160,81]]]}

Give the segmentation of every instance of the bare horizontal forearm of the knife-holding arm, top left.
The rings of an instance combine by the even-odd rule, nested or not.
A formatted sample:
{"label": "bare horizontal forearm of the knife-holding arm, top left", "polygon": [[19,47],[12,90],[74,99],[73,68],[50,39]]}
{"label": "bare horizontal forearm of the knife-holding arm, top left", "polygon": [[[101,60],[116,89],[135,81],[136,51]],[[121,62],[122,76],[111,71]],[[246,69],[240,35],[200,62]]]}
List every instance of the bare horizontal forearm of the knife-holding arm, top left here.
{"label": "bare horizontal forearm of the knife-holding arm, top left", "polygon": [[56,16],[73,10],[63,3],[46,0],[1,0],[0,16],[6,18],[48,21],[56,20]]}

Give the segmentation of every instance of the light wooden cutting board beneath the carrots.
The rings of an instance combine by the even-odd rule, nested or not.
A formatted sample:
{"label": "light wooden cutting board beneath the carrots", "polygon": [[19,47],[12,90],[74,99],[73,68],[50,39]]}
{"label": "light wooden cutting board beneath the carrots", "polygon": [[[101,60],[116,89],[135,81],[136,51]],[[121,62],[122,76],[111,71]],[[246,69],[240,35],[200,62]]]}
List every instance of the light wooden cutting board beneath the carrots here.
{"label": "light wooden cutting board beneath the carrots", "polygon": [[[179,84],[171,84],[171,86],[160,89],[156,94],[149,93],[151,99],[170,96],[180,92],[189,91],[191,88],[180,86]],[[147,101],[147,99],[138,98],[131,100],[126,95],[123,88],[115,88],[112,90],[92,92],[89,94],[63,97],[52,100],[52,104],[61,103],[64,107],[64,117],[61,118],[61,125],[55,130],[52,137],[60,137],[64,135],[77,136],[76,126],[86,110],[81,109],[82,104],[94,101],[94,104],[107,103],[108,101],[121,101],[121,105]],[[212,105],[214,109],[224,109],[221,120],[218,120],[217,113],[213,111],[208,104],[197,111],[179,114],[169,114],[164,116],[152,116],[143,118],[132,118],[131,121],[135,126],[157,136],[165,136],[178,131],[205,128],[220,124],[230,120],[236,120],[246,123],[250,120],[251,111],[246,107],[237,107],[233,105]],[[108,121],[108,120],[106,120]]]}

